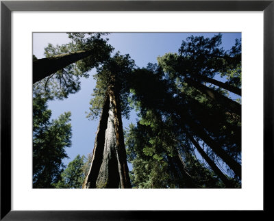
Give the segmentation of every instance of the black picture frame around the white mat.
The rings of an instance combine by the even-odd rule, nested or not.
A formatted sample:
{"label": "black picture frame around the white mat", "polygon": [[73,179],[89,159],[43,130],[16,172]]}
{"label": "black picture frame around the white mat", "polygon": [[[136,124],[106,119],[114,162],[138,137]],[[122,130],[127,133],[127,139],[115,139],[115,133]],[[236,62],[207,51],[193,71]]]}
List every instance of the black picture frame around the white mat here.
{"label": "black picture frame around the white mat", "polygon": [[[1,220],[166,220],[197,211],[12,211],[11,13],[12,11],[263,11],[264,12],[264,210],[273,196],[274,0],[271,1],[1,1]],[[255,163],[255,162],[254,162]],[[256,174],[254,174],[256,179]],[[200,212],[200,211],[199,211]],[[201,211],[202,212],[202,211]],[[227,213],[229,218],[229,211]],[[238,211],[239,213],[240,211]],[[203,211],[210,214],[210,211]],[[254,214],[254,213],[253,213]],[[203,215],[204,216],[204,215]],[[255,218],[256,216],[253,215]],[[205,218],[205,217],[203,217]],[[232,218],[232,216],[231,216]],[[169,218],[168,220],[173,220]]]}

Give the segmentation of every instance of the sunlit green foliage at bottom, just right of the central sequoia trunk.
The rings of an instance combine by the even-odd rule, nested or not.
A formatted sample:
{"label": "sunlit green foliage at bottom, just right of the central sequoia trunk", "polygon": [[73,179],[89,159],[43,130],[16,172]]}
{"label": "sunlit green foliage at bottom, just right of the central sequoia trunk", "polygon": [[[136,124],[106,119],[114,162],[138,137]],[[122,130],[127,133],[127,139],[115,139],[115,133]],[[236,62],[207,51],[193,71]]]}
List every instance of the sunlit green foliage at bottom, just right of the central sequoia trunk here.
{"label": "sunlit green foliage at bottom, just right of the central sequoia trunk", "polygon": [[[140,124],[136,127],[129,126],[125,142],[128,160],[133,165],[130,177],[135,188],[222,187],[219,179],[195,159],[189,150],[185,150],[182,144],[167,141],[168,136],[162,138],[164,133],[168,133],[169,136],[171,133],[174,135],[171,127],[155,134],[149,126]],[[158,144],[155,146],[149,144],[151,139],[158,140]],[[176,148],[179,152],[175,151]],[[191,178],[186,177],[179,170],[180,165],[175,161],[178,154],[184,158],[184,164]]]}

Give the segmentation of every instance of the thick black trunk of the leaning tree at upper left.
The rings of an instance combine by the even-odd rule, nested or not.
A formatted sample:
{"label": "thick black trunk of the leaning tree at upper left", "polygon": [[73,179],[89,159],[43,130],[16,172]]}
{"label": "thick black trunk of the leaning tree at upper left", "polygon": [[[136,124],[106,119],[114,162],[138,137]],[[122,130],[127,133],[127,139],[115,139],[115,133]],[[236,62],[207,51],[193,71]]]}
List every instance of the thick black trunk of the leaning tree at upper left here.
{"label": "thick black trunk of the leaning tree at upper left", "polygon": [[38,59],[33,62],[32,81],[36,83],[45,77],[56,73],[58,70],[65,68],[69,64],[73,64],[85,57],[92,55],[92,51],[77,51],[74,53],[66,53]]}

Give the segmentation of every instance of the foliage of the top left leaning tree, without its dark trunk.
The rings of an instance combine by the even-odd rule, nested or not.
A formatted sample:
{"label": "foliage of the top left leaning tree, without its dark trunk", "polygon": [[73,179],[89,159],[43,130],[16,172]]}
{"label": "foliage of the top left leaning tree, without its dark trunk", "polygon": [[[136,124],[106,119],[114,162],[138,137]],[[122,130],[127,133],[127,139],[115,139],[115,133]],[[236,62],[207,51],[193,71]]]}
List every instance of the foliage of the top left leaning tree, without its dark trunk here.
{"label": "foliage of the top left leaning tree, without its dark trunk", "polygon": [[80,77],[89,77],[92,68],[99,67],[102,62],[108,60],[113,48],[103,38],[104,34],[93,33],[69,33],[72,42],[69,44],[49,44],[45,48],[45,57],[74,53],[77,51],[91,51],[92,54],[74,64],[66,66],[57,73],[53,73],[34,83],[34,91],[47,99],[66,99],[69,94],[80,90]]}

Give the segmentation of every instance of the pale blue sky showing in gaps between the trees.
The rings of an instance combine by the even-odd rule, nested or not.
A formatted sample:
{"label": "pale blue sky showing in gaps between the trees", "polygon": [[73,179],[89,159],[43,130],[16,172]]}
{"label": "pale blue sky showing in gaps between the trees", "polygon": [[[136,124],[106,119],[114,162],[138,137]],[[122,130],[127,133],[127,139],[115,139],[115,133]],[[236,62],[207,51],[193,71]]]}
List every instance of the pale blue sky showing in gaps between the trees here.
{"label": "pale blue sky showing in gaps between the trees", "polygon": [[[165,53],[177,53],[182,43],[188,36],[204,36],[211,38],[217,33],[112,33],[108,36],[109,42],[122,54],[129,53],[139,67],[147,66],[147,63],[156,63],[157,57]],[[231,49],[235,44],[236,38],[240,39],[240,33],[223,33],[223,48]],[[66,44],[69,38],[65,33],[34,33],[33,34],[33,52],[38,58],[43,55],[44,48],[48,43]],[[66,148],[66,153],[70,159],[64,159],[64,164],[69,164],[76,155],[88,155],[92,153],[95,135],[97,132],[98,120],[88,120],[86,112],[89,110],[89,101],[95,88],[95,80],[92,74],[88,79],[82,79],[81,90],[76,94],[70,94],[68,99],[63,101],[49,101],[51,109],[51,118],[58,118],[60,114],[70,111],[71,125],[73,130],[72,146]],[[136,114],[132,112],[129,120],[123,119],[123,128],[130,122],[136,122]],[[131,170],[131,166],[129,167]]]}

